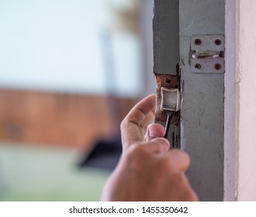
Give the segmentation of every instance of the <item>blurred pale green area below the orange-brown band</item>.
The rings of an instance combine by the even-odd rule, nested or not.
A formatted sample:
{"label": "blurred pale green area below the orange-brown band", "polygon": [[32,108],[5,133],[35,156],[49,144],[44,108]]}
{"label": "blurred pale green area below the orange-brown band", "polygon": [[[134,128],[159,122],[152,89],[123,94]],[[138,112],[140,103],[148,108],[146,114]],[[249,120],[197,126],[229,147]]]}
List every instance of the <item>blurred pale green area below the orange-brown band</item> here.
{"label": "blurred pale green area below the orange-brown band", "polygon": [[0,143],[0,201],[99,201],[108,171],[79,169],[74,150]]}

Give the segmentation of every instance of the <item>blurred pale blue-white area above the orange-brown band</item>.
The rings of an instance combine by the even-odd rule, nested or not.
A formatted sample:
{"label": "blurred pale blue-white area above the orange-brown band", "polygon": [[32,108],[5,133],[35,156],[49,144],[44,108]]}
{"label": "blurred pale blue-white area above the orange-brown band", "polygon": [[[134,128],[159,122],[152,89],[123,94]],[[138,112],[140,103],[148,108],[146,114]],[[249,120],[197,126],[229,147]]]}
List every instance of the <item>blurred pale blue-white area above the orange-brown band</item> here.
{"label": "blurred pale blue-white area above the orange-brown band", "polygon": [[117,2],[0,1],[0,88],[140,93],[140,40],[109,31],[109,4]]}

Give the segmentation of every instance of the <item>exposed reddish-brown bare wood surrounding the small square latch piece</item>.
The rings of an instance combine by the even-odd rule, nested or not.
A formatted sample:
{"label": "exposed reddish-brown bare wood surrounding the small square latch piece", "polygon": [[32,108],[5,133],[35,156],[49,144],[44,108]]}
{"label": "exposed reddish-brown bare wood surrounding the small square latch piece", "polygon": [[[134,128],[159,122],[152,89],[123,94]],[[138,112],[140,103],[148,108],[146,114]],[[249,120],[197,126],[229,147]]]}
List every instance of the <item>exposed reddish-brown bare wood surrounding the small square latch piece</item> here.
{"label": "exposed reddish-brown bare wood surrounding the small square latch piece", "polygon": [[[156,122],[165,122],[167,119],[167,111],[161,111],[161,87],[164,88],[180,88],[180,77],[178,75],[171,74],[158,74],[154,72],[157,84],[157,109],[156,109]],[[180,112],[175,112],[171,119],[171,124],[178,126],[180,119]]]}

